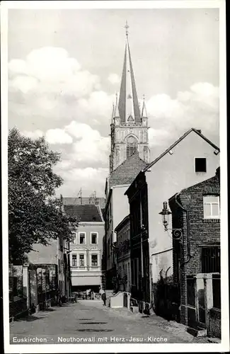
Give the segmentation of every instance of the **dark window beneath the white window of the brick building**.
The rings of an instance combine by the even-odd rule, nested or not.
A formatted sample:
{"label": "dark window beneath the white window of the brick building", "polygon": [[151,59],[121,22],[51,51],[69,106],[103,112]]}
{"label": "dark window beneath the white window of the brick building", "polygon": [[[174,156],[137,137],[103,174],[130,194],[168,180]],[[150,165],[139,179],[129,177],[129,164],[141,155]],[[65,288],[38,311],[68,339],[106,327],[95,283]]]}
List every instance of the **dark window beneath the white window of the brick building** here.
{"label": "dark window beneath the white window of the brick building", "polygon": [[202,247],[201,272],[220,273],[220,248],[219,246]]}

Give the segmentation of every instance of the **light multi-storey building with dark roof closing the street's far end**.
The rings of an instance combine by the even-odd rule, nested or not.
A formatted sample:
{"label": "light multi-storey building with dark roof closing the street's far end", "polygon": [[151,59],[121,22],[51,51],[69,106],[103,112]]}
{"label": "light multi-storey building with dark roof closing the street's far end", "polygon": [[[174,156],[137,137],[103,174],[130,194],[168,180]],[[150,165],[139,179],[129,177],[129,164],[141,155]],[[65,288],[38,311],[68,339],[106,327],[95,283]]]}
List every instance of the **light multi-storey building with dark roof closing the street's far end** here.
{"label": "light multi-storey building with dark roof closing the street's far end", "polygon": [[96,205],[64,205],[64,211],[78,218],[74,241],[69,245],[71,289],[93,289],[102,285],[102,253],[105,223],[100,207]]}

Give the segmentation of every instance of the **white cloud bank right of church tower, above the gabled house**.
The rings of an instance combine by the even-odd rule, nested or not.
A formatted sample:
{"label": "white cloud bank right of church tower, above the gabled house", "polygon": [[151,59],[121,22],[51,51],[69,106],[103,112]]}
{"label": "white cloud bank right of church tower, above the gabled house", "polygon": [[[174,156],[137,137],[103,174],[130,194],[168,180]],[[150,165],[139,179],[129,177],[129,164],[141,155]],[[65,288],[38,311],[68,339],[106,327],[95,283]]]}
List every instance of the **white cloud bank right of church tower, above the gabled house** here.
{"label": "white cloud bank right of church tower, above the gabled house", "polygon": [[[176,98],[166,94],[151,96],[146,102],[151,144],[167,141],[180,132],[195,127],[204,134],[219,132],[219,88],[206,82],[193,84],[188,91],[179,91]],[[163,142],[163,140],[162,140]]]}

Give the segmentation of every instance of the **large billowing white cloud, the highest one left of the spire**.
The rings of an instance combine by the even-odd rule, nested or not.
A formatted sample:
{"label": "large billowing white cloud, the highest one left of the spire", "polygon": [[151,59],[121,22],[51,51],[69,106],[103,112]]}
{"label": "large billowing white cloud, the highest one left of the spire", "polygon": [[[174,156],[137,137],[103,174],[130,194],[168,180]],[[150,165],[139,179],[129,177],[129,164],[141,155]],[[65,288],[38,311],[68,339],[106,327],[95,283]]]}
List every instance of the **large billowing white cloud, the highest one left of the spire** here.
{"label": "large billowing white cloud, the highest one left of the spire", "polygon": [[78,98],[100,87],[97,75],[81,70],[79,62],[58,47],[33,50],[25,60],[12,59],[8,71],[10,91]]}

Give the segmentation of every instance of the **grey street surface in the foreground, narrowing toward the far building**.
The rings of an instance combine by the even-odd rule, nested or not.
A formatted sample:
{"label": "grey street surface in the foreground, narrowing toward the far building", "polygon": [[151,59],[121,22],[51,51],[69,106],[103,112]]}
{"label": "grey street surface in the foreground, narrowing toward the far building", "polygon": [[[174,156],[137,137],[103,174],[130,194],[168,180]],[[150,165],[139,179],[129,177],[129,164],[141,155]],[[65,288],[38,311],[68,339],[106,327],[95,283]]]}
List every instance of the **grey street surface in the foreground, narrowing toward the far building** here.
{"label": "grey street surface in the foreground, narrowing toward the far building", "polygon": [[25,339],[24,344],[39,343],[38,338],[40,343],[65,344],[193,342],[194,338],[179,327],[155,315],[146,317],[104,307],[97,300],[81,300],[18,319],[11,323],[10,331],[11,343]]}

